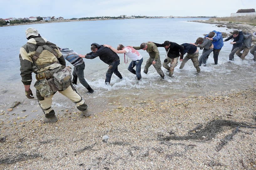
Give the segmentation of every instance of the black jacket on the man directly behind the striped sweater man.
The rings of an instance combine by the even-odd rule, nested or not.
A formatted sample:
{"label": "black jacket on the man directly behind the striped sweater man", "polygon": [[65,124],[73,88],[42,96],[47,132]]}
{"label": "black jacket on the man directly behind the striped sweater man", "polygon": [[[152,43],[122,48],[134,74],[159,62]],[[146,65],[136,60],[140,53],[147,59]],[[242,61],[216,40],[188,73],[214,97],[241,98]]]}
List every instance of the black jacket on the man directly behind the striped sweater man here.
{"label": "black jacket on the man directly behind the striped sweater man", "polygon": [[93,59],[99,56],[100,59],[108,65],[119,60],[119,56],[117,55],[117,53],[113,52],[110,48],[103,47],[102,45],[99,45],[97,43],[92,43],[91,45],[96,45],[98,50],[96,53],[87,53],[85,58]]}

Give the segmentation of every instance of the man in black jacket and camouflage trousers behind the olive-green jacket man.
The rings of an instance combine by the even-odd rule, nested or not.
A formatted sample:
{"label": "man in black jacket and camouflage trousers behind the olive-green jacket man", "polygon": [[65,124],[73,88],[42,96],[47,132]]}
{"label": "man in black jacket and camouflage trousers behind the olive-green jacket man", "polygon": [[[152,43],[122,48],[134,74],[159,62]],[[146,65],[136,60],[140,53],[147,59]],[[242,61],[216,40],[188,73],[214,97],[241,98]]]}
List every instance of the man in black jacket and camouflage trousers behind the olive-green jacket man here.
{"label": "man in black jacket and camouflage trousers behind the olive-green jacket man", "polygon": [[[175,42],[170,42],[170,41],[165,41],[163,44],[154,44],[157,47],[165,47],[166,55],[165,55],[165,60],[163,63],[163,67],[166,68],[167,70],[170,70],[169,76],[173,75],[174,68],[178,64],[178,58],[180,57],[180,62],[183,60],[183,56],[181,57],[180,54],[184,53],[184,47],[180,46],[179,44]],[[170,64],[170,67],[168,64]]]}

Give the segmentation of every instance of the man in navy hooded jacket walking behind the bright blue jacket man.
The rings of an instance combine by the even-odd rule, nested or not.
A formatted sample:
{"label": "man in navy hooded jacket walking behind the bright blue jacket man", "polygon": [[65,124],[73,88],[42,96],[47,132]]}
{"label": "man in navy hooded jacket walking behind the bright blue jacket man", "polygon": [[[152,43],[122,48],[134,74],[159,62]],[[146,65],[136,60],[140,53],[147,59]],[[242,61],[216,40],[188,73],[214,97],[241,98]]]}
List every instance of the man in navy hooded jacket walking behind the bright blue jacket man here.
{"label": "man in navy hooded jacket walking behind the bright blue jacket man", "polygon": [[240,47],[242,47],[243,43],[243,31],[233,31],[232,35],[225,39],[223,42],[228,41],[230,39],[234,39],[233,42],[230,42],[230,44],[233,44],[231,53],[229,54],[229,60],[234,60],[234,54],[239,50]]}

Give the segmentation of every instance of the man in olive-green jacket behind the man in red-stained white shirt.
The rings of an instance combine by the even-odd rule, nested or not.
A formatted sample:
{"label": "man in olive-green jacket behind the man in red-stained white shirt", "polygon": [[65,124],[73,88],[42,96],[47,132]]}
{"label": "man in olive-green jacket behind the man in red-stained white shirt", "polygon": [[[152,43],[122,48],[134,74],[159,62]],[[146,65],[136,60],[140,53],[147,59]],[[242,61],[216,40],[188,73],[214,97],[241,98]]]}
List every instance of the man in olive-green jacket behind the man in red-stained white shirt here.
{"label": "man in olive-green jacket behind the man in red-stained white shirt", "polygon": [[[132,46],[130,46],[132,47]],[[163,72],[163,70],[161,69],[161,60],[160,60],[160,56],[159,56],[159,51],[156,47],[156,45],[152,42],[148,42],[148,43],[141,43],[140,47],[132,47],[136,50],[146,50],[149,53],[149,59],[147,60],[147,63],[144,67],[144,73],[148,73],[149,67],[151,66],[151,64],[153,64],[154,68],[156,69],[156,72],[161,76],[161,78],[165,78],[165,74]]]}

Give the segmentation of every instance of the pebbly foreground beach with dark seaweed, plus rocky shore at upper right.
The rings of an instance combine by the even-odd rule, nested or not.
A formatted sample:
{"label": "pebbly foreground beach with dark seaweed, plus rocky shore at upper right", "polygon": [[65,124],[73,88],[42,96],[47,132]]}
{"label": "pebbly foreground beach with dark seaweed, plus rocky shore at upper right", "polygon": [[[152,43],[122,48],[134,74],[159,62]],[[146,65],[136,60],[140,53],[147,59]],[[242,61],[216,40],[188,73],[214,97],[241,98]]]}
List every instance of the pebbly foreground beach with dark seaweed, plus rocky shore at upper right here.
{"label": "pebbly foreground beach with dark seaweed, plus rocky shore at upper right", "polygon": [[[218,22],[255,32],[255,26],[229,24]],[[40,107],[22,98],[0,110],[0,167],[256,170],[252,82],[253,87],[201,96],[127,98],[127,103],[115,98],[105,107],[89,102],[97,109],[87,118],[75,107],[55,108],[56,123],[44,123]]]}

